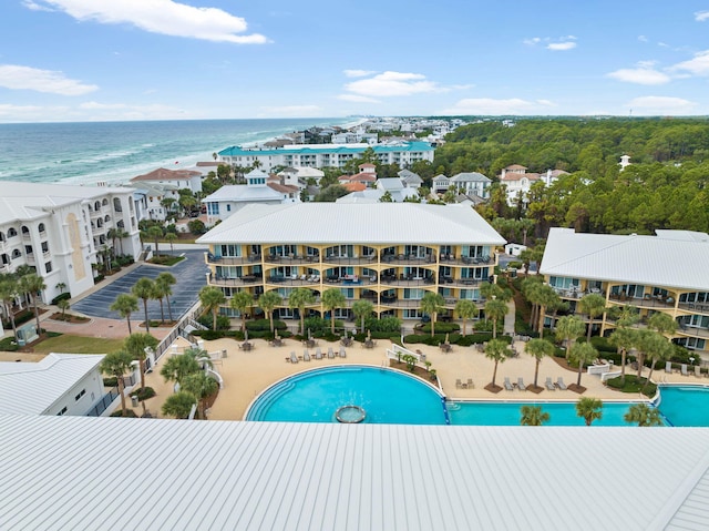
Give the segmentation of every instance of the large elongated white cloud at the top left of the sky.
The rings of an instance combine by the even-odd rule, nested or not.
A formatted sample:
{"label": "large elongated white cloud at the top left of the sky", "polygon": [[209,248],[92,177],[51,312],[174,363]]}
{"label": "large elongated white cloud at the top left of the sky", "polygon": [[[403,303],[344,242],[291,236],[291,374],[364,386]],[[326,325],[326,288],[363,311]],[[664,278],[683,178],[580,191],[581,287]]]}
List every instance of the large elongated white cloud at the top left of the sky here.
{"label": "large elongated white cloud at the top left of the sky", "polygon": [[258,33],[239,34],[248,29],[246,20],[218,8],[195,8],[172,0],[30,0],[30,9],[55,8],[79,21],[104,24],[133,24],[136,28],[173,37],[186,37],[236,44],[263,44]]}

